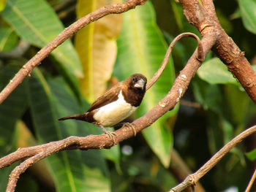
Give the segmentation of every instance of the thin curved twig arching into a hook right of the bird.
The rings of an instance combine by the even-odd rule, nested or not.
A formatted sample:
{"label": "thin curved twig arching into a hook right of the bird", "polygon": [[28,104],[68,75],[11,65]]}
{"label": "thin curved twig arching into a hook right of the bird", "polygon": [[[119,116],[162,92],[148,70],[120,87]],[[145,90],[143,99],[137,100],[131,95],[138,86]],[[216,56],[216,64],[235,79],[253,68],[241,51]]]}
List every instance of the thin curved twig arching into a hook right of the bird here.
{"label": "thin curved twig arching into a hook right of the bird", "polygon": [[170,43],[166,53],[165,53],[165,58],[162,61],[161,66],[159,67],[159,69],[157,70],[157,72],[154,74],[153,77],[151,77],[151,80],[148,81],[147,85],[146,85],[146,91],[151,88],[152,85],[154,85],[155,82],[157,82],[157,80],[159,79],[159,77],[161,76],[162,72],[165,70],[165,67],[168,63],[168,60],[170,58],[170,53],[173,50],[173,46],[176,44],[176,42],[178,42],[179,39],[182,39],[183,37],[193,37],[197,40],[197,59],[201,62],[203,62],[205,55],[203,54],[203,45],[200,42],[199,37],[197,37],[197,35],[192,34],[192,33],[183,33],[183,34],[179,34],[175,39],[173,39],[173,42]]}

